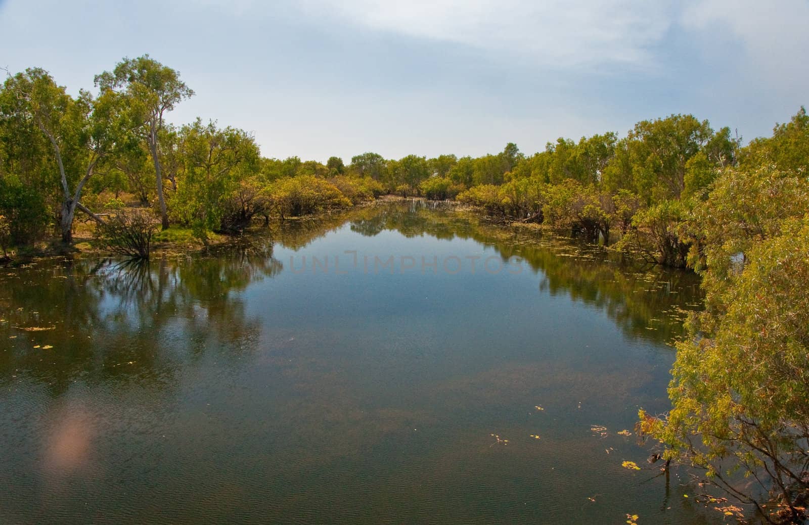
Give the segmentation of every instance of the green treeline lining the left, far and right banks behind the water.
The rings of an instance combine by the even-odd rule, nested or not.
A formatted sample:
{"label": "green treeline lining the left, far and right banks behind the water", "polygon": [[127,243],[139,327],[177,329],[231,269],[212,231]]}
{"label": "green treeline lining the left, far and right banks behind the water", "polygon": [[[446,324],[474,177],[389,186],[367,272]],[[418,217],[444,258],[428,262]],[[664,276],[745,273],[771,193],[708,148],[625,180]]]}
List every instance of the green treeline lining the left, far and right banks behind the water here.
{"label": "green treeline lining the left, far and right banks behind the water", "polygon": [[682,225],[722,173],[772,163],[798,170],[806,163],[797,143],[786,143],[802,133],[803,109],[773,138],[744,148],[729,128],[714,131],[708,121],[672,115],[638,122],[625,138],[612,132],[578,142],[559,138],[530,156],[509,143],[477,158],[384,159],[367,152],[345,164],[338,157],[267,159],[244,130],[201,119],[167,123],[193,91],[176,70],[148,55],[96,75],[95,87],[95,94],[71,96],[40,69],[6,78],[0,90],[4,249],[53,231],[70,243],[77,213],[104,230],[123,210],[139,207],[163,229],[176,224],[205,239],[210,231],[239,231],[255,218],[314,214],[390,193],[458,199],[502,219],[617,240],[618,248],[684,266],[695,239]]}

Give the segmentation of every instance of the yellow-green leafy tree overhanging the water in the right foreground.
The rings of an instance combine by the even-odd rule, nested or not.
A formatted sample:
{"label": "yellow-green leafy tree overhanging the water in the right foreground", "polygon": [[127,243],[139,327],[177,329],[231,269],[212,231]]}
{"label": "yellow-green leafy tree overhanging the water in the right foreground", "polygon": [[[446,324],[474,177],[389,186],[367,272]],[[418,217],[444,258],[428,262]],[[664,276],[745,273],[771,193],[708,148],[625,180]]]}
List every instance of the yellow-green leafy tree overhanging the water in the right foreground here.
{"label": "yellow-green leafy tree overhanging the water in the right foreground", "polygon": [[[687,230],[705,311],[677,344],[667,417],[644,417],[665,456],[760,506],[741,471],[797,523],[809,498],[809,186],[772,166],[726,169]],[[766,514],[766,513],[765,513]]]}

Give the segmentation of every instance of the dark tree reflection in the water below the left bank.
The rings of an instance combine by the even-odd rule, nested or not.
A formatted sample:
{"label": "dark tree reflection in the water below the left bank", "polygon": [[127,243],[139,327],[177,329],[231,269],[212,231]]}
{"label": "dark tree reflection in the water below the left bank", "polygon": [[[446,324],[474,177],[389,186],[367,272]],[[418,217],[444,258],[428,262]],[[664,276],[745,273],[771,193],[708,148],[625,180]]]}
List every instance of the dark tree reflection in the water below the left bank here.
{"label": "dark tree reflection in the water below the left bank", "polygon": [[54,394],[75,379],[161,387],[188,354],[227,345],[222,357],[236,359],[260,322],[235,292],[281,269],[272,244],[259,241],[189,260],[51,260],[6,275],[0,382],[19,375]]}

